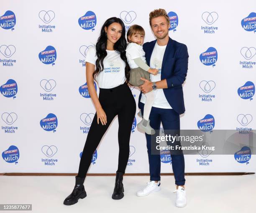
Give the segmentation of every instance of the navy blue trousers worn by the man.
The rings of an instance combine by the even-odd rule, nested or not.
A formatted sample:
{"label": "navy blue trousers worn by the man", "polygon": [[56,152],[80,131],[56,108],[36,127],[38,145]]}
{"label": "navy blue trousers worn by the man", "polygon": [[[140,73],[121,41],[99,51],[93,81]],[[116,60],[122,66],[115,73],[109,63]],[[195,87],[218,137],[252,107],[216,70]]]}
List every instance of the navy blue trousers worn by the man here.
{"label": "navy blue trousers worn by the man", "polygon": [[[141,105],[141,113],[143,115],[144,104],[140,103]],[[159,130],[160,124],[162,122],[164,130],[179,130],[180,123],[179,123],[179,114],[174,111],[173,109],[163,109],[163,108],[151,108],[151,113],[149,115],[150,125],[153,129]],[[147,140],[147,149],[148,149],[148,162],[149,162],[149,173],[150,173],[150,180],[158,181],[161,179],[160,172],[161,172],[161,158],[160,153],[151,154],[151,137],[156,137],[157,132],[155,135],[146,135]],[[185,184],[185,177],[184,177],[184,170],[185,170],[185,163],[184,163],[184,155],[172,155],[172,170],[174,173],[175,184],[176,185],[184,185]]]}

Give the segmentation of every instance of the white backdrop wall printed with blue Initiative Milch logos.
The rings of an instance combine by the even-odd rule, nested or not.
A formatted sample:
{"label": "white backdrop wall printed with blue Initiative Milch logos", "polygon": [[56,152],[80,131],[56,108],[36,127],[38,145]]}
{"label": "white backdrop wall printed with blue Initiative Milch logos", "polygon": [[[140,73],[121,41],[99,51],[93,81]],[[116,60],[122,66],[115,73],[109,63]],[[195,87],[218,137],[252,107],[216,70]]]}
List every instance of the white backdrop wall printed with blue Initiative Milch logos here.
{"label": "white backdrop wall printed with blue Initiative Milch logos", "polygon": [[[86,50],[96,43],[102,24],[112,16],[122,18],[126,28],[133,24],[143,26],[145,42],[154,40],[148,15],[156,8],[177,14],[174,21],[178,18],[178,24],[169,31],[169,36],[188,47],[189,70],[183,85],[186,112],[181,115],[181,128],[198,129],[197,121],[210,114],[215,119],[213,131],[255,129],[255,88],[252,84],[256,83],[255,1],[2,1],[0,173],[77,173],[86,130],[95,113],[91,99],[79,93],[79,88],[86,83],[83,65]],[[84,15],[89,24],[96,23],[93,29],[83,29],[79,25],[78,20]],[[241,21],[248,16],[251,19],[247,19],[243,27]],[[15,25],[6,29],[14,22]],[[214,30],[210,33],[202,30],[207,27]],[[250,31],[250,27],[254,30]],[[55,49],[54,65],[53,62],[43,63],[38,56],[48,46]],[[218,53],[214,66],[200,61],[200,54],[210,47]],[[250,63],[250,68],[243,68],[241,62]],[[207,82],[209,85],[205,88]],[[248,99],[238,95],[238,88],[245,84],[250,88],[246,89],[251,95]],[[15,86],[18,92],[6,97]],[[131,90],[138,103],[138,88]],[[44,94],[46,97],[51,94],[52,100],[44,100]],[[207,94],[211,95],[208,101],[199,97]],[[54,130],[47,131],[40,121],[50,113],[56,116],[58,123]],[[137,114],[136,120],[141,120]],[[136,125],[134,127],[126,173],[148,173],[146,138]],[[97,148],[89,173],[115,173],[117,130],[115,118]],[[254,172],[255,155],[247,156],[248,160],[242,163],[234,155],[185,155],[185,172]],[[200,159],[209,159],[210,163],[200,165],[197,162]],[[172,172],[170,159],[162,161],[161,172]]]}

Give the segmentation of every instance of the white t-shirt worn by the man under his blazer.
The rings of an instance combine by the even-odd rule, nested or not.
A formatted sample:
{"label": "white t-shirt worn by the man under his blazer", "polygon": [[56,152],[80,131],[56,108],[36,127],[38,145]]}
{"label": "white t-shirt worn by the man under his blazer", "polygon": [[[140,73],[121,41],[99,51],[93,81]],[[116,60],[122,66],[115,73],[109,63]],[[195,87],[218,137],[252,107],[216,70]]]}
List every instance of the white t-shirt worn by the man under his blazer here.
{"label": "white t-shirt worn by the man under his blazer", "polygon": [[[156,68],[159,71],[157,75],[150,74],[150,79],[152,82],[161,80],[161,67],[162,67],[165,49],[166,49],[166,45],[159,46],[156,42],[150,58],[150,67]],[[154,98],[153,107],[163,108],[163,109],[172,109],[172,107],[170,106],[170,104],[165,98],[163,89],[154,90],[154,95],[155,95],[155,98]],[[146,96],[143,93],[141,95],[141,102],[146,103]]]}

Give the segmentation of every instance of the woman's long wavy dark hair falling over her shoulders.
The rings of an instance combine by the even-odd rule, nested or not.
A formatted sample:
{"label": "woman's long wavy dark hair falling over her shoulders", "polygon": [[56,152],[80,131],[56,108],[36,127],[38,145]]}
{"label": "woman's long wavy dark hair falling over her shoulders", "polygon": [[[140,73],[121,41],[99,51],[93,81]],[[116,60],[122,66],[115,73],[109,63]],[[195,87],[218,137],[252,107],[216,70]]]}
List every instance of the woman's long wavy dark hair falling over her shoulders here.
{"label": "woman's long wavy dark hair falling over her shoulders", "polygon": [[112,17],[105,21],[103,24],[101,30],[100,30],[100,37],[98,38],[98,41],[96,43],[96,70],[94,71],[93,78],[95,79],[95,75],[97,75],[99,72],[104,70],[103,60],[107,56],[107,35],[105,33],[105,27],[108,28],[109,25],[112,23],[119,23],[122,26],[122,35],[118,39],[118,41],[114,44],[114,50],[118,51],[120,53],[121,59],[125,62],[125,77],[127,81],[130,79],[130,67],[127,62],[125,49],[127,46],[126,39],[125,39],[125,25],[123,21],[120,18]]}

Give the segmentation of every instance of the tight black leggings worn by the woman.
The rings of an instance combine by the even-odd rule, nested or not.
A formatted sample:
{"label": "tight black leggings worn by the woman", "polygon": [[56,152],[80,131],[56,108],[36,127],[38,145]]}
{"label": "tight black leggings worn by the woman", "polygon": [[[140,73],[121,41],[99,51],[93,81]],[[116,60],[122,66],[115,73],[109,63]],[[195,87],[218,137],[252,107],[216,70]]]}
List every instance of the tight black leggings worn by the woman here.
{"label": "tight black leggings worn by the woman", "polygon": [[92,154],[100,143],[100,140],[108,129],[113,118],[118,115],[118,172],[125,173],[125,168],[130,152],[130,135],[133,119],[136,112],[136,103],[127,83],[111,89],[101,89],[99,95],[100,104],[107,115],[106,125],[100,120],[97,123],[97,114],[92,120],[92,125],[87,135],[84,150],[81,156],[78,177],[84,178],[90,167]]}

